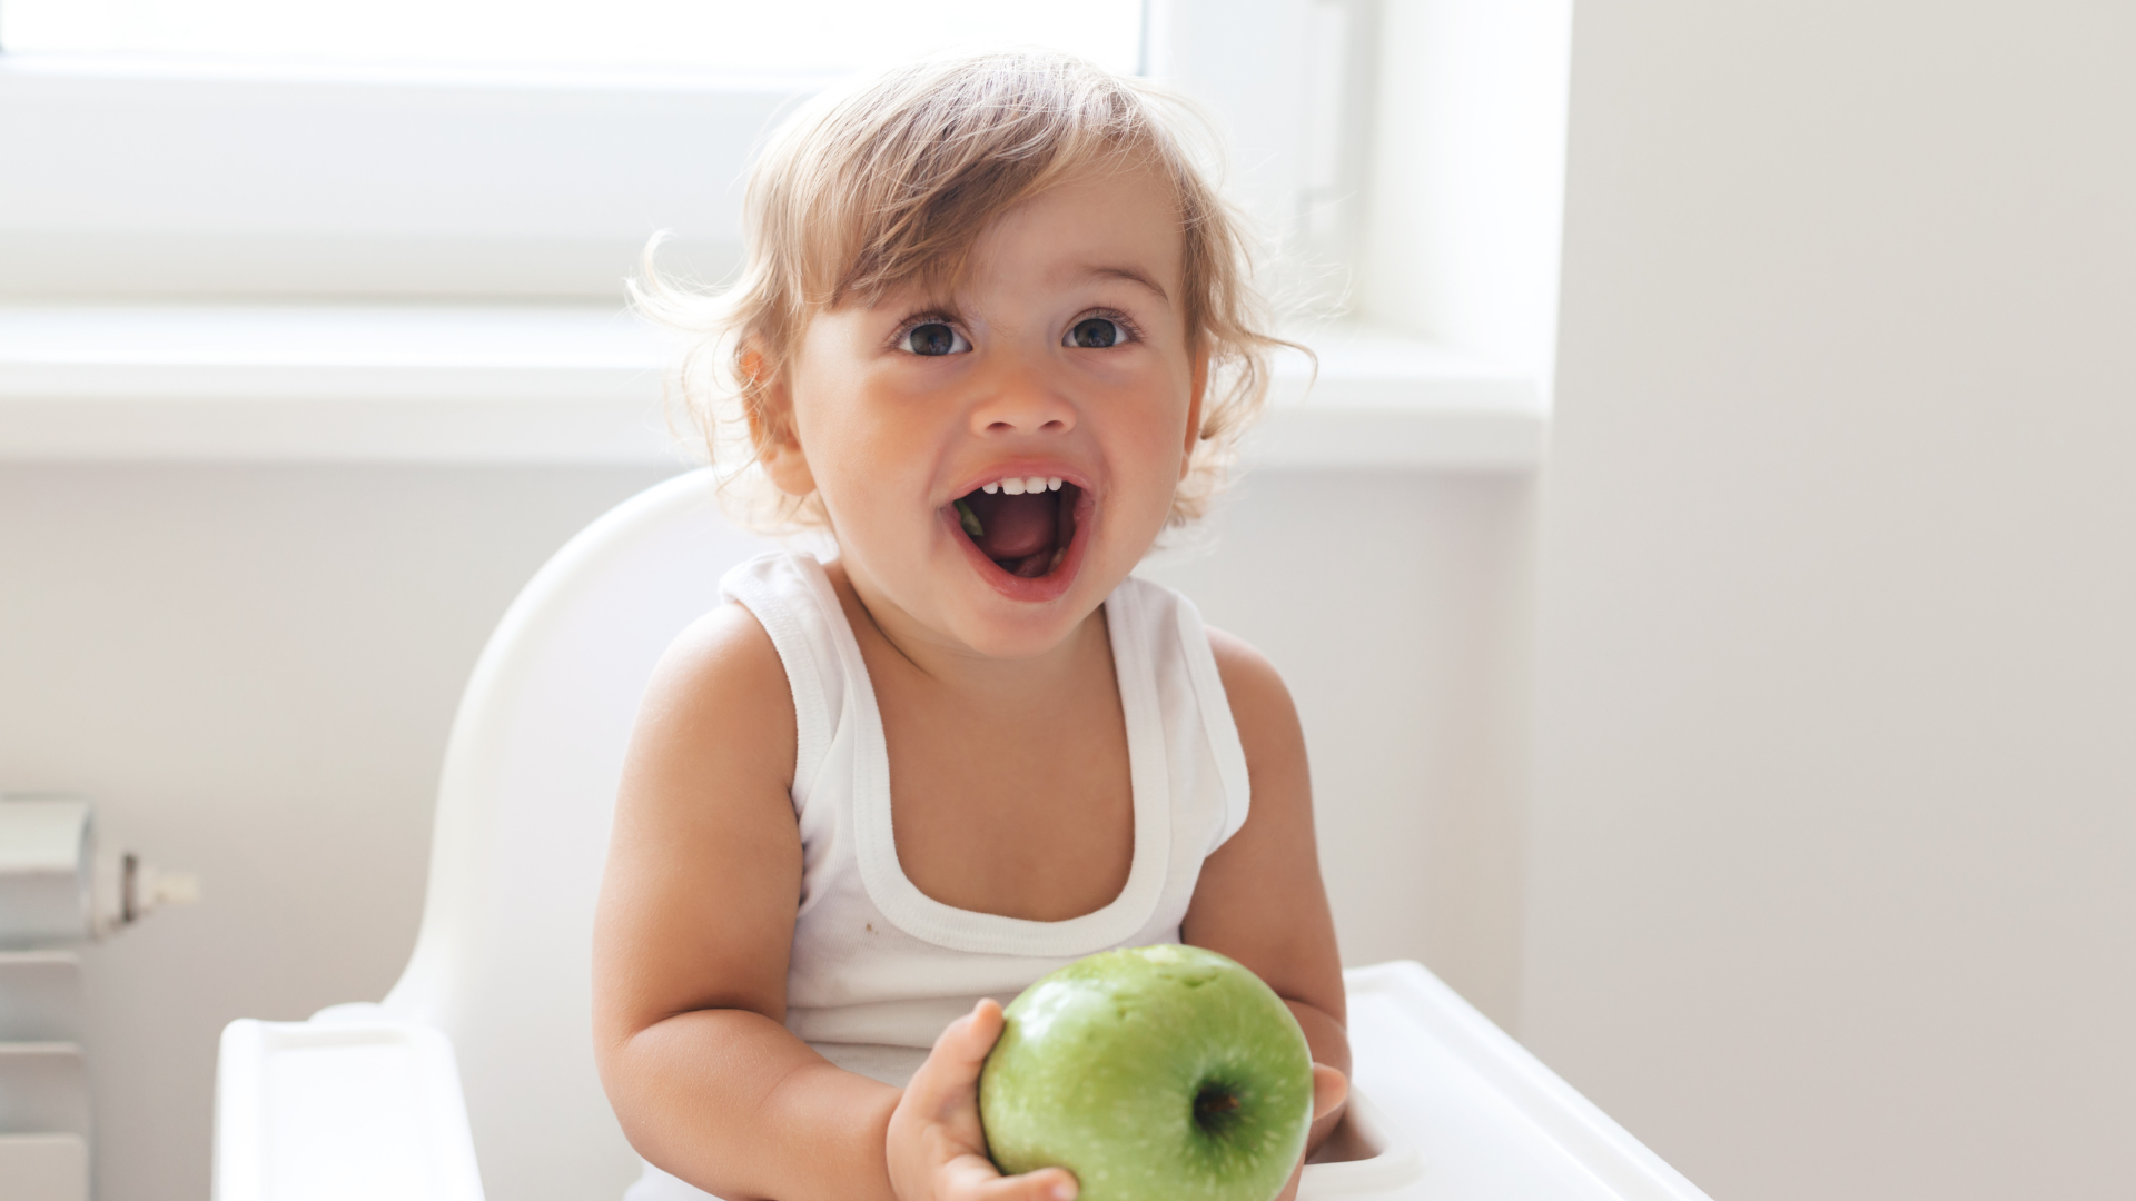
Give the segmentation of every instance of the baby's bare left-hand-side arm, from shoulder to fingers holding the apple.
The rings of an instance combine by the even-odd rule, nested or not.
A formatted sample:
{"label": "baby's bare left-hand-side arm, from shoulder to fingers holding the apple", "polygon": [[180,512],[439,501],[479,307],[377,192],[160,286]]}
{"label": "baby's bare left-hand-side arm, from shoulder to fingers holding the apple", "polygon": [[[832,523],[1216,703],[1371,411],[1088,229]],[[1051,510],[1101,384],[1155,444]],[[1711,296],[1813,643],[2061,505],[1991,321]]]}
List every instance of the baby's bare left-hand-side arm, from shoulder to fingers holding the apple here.
{"label": "baby's bare left-hand-side arm, from shoulder to fingers holding the apple", "polygon": [[662,658],[615,801],[594,1056],[624,1135],[728,1201],[1072,1195],[1062,1171],[1004,1180],[961,1145],[998,1009],[953,1026],[906,1090],[831,1066],[786,1030],[801,902],[792,765],[778,650],[728,605]]}

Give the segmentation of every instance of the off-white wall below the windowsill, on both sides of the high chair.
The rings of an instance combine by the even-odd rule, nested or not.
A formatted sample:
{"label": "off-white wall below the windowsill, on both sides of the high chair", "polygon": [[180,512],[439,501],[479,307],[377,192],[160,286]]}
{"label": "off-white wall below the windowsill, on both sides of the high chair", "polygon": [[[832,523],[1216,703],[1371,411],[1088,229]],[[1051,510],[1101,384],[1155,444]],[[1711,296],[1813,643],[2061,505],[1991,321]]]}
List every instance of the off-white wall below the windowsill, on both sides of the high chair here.
{"label": "off-white wall below the windowsill, on both sides of the high chair", "polygon": [[[0,784],[73,789],[205,900],[88,957],[103,1201],[203,1197],[214,1049],[393,983],[453,705],[643,468],[0,466]],[[1153,568],[1290,677],[1350,962],[1508,1013],[1525,477],[1262,474]],[[1482,833],[1478,833],[1482,831]],[[1467,846],[1476,846],[1470,853]]]}

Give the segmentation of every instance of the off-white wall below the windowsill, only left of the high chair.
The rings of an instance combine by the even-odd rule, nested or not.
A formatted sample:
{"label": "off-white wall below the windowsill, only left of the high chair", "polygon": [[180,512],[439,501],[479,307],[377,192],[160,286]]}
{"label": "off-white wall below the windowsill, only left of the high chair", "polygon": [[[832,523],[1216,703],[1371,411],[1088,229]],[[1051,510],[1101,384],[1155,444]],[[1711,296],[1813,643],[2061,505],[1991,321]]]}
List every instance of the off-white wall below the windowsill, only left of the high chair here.
{"label": "off-white wall below the windowsill, only left of the high chair", "polygon": [[393,983],[483,639],[656,477],[0,466],[0,786],[205,889],[85,957],[103,1201],[207,1195],[222,1024]]}

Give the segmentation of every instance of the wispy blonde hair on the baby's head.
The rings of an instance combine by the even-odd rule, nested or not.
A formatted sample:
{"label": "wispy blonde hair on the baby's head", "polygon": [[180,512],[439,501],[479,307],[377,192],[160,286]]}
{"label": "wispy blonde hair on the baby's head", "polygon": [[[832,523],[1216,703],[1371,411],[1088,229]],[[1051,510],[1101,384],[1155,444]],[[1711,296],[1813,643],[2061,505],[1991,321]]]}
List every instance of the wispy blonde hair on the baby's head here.
{"label": "wispy blonde hair on the baby's head", "polygon": [[1260,329],[1245,222],[1205,173],[1209,139],[1188,137],[1205,130],[1175,96],[1045,51],[899,66],[786,120],[750,169],[739,280],[690,293],[647,248],[630,286],[641,312],[690,338],[671,395],[722,468],[735,517],[760,530],[829,524],[816,496],[786,496],[752,470],[790,421],[765,380],[790,363],[814,312],[955,284],[993,218],[1096,167],[1156,167],[1177,197],[1183,316],[1190,346],[1209,353],[1209,383],[1166,524],[1200,517],[1267,400],[1269,350],[1288,344]]}

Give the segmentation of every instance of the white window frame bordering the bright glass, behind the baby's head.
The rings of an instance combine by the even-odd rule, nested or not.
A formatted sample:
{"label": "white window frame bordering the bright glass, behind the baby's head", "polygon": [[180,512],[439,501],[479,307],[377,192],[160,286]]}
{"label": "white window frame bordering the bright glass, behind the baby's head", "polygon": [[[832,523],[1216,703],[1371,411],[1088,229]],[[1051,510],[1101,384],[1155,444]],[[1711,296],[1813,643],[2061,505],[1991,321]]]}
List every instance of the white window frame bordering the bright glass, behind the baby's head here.
{"label": "white window frame bordering the bright glass, behind the baby's head", "polygon": [[[1147,73],[1228,132],[1232,190],[1277,237],[1314,6],[1145,0]],[[720,278],[754,147],[829,83],[0,53],[0,297],[613,301],[660,229]]]}

